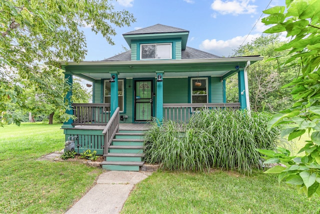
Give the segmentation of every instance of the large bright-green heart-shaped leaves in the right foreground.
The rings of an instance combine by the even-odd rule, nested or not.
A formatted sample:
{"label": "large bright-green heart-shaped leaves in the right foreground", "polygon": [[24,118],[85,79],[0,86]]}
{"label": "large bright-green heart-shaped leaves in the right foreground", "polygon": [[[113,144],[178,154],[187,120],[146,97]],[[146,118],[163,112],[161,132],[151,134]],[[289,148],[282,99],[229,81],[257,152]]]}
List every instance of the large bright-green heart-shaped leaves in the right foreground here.
{"label": "large bright-green heart-shaped leaves in the right foreground", "polygon": [[295,185],[297,191],[307,197],[320,196],[320,1],[286,0],[286,10],[278,6],[263,13],[268,17],[262,22],[273,25],[265,33],[286,32],[291,38],[276,49],[292,53],[285,64],[300,67],[298,77],[286,85],[291,89],[295,103],[272,116],[268,128],[285,124],[281,134],[288,135],[288,140],[305,132],[309,139],[299,151],[304,152],[302,156],[291,156],[283,148],[259,151],[265,155],[264,163],[286,166],[276,165],[266,173],[278,173],[279,181]]}

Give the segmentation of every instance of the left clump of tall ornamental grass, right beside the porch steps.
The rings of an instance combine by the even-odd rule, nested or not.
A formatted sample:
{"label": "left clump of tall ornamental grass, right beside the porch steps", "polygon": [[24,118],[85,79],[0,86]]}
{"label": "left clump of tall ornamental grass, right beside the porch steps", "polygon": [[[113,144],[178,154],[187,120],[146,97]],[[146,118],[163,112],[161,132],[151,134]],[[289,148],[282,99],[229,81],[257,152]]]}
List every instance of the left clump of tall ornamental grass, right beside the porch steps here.
{"label": "left clump of tall ornamental grass, right beside the porch steps", "polygon": [[187,129],[185,125],[171,120],[162,126],[153,121],[152,128],[146,132],[145,158],[148,163],[160,163],[169,170],[202,171],[210,168],[213,160],[213,146],[203,130]]}

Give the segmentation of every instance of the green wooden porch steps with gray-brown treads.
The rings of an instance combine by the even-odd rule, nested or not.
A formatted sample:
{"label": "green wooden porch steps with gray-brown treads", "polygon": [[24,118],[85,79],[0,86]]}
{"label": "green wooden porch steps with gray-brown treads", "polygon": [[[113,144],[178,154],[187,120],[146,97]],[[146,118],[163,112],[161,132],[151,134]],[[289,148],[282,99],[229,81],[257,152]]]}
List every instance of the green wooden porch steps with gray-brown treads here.
{"label": "green wooden porch steps with gray-brown treads", "polygon": [[143,165],[143,130],[121,130],[115,134],[109,146],[108,153],[104,154],[102,168],[117,171],[139,171]]}

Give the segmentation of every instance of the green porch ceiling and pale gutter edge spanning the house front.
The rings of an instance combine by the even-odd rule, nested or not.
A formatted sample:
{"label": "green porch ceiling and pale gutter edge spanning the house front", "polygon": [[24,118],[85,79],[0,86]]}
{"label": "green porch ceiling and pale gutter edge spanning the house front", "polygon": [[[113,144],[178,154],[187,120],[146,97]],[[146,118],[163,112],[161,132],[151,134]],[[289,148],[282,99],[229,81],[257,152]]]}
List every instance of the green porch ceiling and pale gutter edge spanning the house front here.
{"label": "green porch ceiling and pale gutter edge spanning the house front", "polygon": [[96,61],[61,63],[62,68],[75,76],[87,80],[110,78],[109,73],[118,72],[118,78],[155,78],[155,72],[163,71],[166,77],[222,77],[235,71],[236,67],[244,68],[247,61],[254,63],[262,57],[234,57],[202,60],[158,60],[158,61]]}

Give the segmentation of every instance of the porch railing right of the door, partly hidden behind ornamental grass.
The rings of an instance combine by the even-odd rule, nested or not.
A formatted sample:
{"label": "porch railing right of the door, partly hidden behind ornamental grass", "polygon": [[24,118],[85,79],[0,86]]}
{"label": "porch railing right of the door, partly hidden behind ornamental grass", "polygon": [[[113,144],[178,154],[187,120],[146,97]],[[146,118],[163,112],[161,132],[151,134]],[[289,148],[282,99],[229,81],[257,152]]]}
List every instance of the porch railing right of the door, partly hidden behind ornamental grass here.
{"label": "porch railing right of the door, partly hidden behind ornamental grass", "polygon": [[164,103],[163,117],[165,120],[187,122],[197,108],[203,107],[240,109],[240,103]]}

